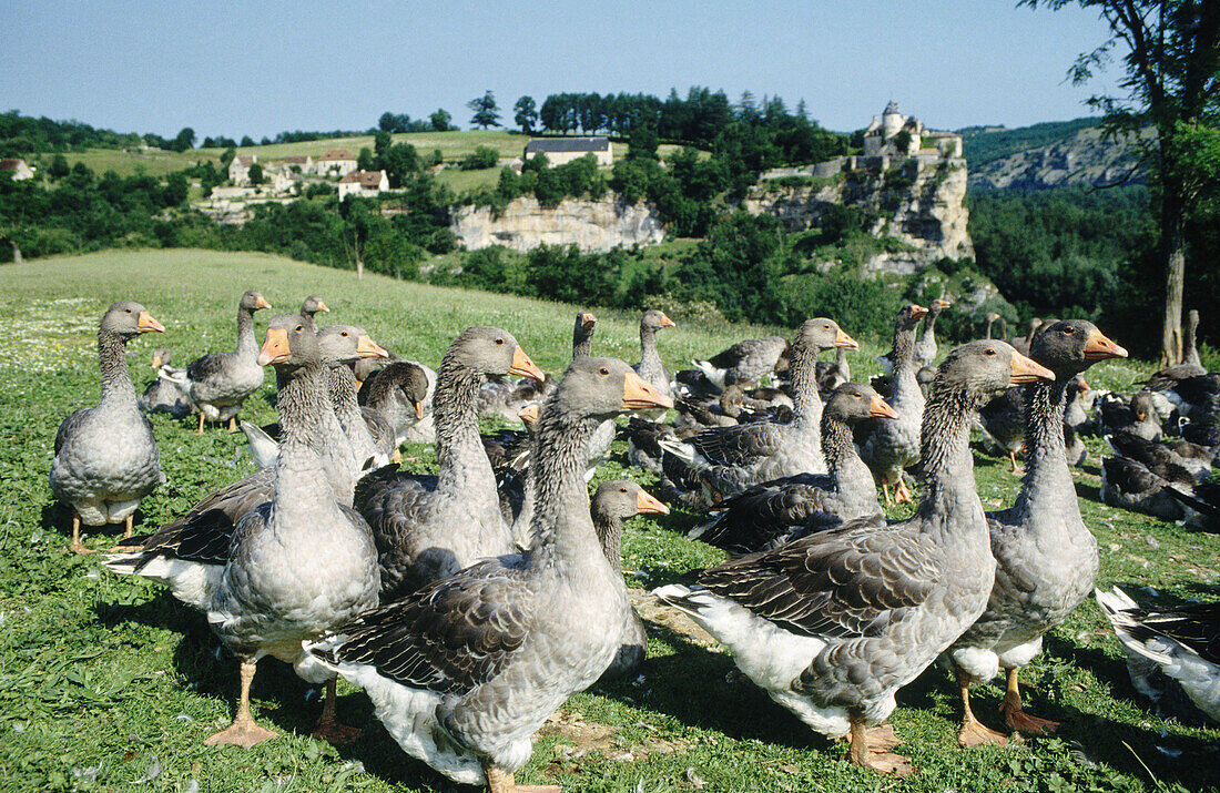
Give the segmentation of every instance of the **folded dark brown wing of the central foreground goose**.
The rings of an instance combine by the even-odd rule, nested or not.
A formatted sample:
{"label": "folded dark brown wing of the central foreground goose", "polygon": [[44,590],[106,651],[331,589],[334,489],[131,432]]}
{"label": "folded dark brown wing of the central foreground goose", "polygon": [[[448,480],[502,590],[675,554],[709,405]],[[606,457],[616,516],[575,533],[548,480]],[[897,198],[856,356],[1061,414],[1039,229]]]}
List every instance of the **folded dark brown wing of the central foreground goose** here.
{"label": "folded dark brown wing of the central foreground goose", "polygon": [[523,571],[488,560],[334,631],[328,662],[366,664],[415,688],[459,695],[495,677],[525,643],[533,598]]}

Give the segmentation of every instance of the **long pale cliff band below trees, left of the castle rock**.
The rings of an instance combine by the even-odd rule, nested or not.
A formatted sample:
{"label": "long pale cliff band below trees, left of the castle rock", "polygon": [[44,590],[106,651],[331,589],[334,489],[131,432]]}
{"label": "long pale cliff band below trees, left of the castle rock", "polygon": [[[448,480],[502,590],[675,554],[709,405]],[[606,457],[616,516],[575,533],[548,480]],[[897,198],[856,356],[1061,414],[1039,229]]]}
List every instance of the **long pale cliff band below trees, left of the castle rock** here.
{"label": "long pale cliff band below trees, left of the castle rock", "polygon": [[504,245],[525,253],[538,245],[575,243],[586,253],[605,253],[654,245],[665,238],[655,207],[627,204],[615,193],[597,201],[565,199],[555,207],[542,206],[528,195],[514,199],[498,215],[489,206],[461,206],[454,207],[451,217],[450,229],[467,250]]}

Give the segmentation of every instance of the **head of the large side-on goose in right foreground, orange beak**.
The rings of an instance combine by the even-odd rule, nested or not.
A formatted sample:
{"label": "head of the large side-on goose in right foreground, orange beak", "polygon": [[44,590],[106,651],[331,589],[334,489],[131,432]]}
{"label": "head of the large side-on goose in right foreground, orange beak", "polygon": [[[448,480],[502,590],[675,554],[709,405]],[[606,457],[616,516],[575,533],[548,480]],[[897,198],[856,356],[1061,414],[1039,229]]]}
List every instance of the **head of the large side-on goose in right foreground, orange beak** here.
{"label": "head of the large side-on goose in right foreground, orange beak", "polygon": [[1021,355],[1006,342],[970,342],[944,359],[932,382],[933,393],[955,394],[967,410],[978,410],[1013,386],[1048,382],[1055,373]]}

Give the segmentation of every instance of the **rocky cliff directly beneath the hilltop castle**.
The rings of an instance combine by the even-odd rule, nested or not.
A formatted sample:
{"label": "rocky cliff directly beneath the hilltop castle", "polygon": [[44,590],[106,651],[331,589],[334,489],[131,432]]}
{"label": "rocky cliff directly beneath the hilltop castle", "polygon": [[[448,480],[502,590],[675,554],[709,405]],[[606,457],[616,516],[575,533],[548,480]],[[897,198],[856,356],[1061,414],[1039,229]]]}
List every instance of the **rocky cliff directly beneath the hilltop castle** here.
{"label": "rocky cliff directly beneath the hilltop castle", "polygon": [[[799,184],[799,177],[811,184]],[[892,237],[914,249],[887,254],[870,270],[909,274],[942,257],[975,255],[965,195],[966,162],[960,157],[839,157],[800,172],[764,174],[742,206],[754,215],[775,215],[792,231],[821,224],[831,205],[864,210],[876,217],[870,229],[875,237]]]}

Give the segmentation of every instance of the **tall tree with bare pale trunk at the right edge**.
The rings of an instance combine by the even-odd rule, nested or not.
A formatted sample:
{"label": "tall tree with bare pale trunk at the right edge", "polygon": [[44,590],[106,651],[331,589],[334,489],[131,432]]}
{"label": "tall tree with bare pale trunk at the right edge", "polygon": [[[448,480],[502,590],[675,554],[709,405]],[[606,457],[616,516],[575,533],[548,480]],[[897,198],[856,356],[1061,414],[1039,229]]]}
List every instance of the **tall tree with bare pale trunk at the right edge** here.
{"label": "tall tree with bare pale trunk at the right edge", "polygon": [[1115,49],[1126,74],[1125,96],[1098,95],[1088,105],[1104,112],[1110,135],[1150,124],[1144,161],[1159,206],[1160,261],[1165,268],[1161,364],[1182,360],[1182,289],[1186,278],[1186,223],[1204,193],[1216,190],[1220,173],[1191,172],[1198,146],[1214,140],[1220,122],[1220,4],[1215,0],[1021,0],[1030,7],[1059,10],[1069,4],[1096,9],[1110,38],[1083,52],[1069,70],[1076,84],[1089,81]]}

